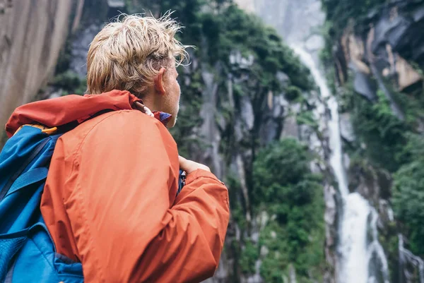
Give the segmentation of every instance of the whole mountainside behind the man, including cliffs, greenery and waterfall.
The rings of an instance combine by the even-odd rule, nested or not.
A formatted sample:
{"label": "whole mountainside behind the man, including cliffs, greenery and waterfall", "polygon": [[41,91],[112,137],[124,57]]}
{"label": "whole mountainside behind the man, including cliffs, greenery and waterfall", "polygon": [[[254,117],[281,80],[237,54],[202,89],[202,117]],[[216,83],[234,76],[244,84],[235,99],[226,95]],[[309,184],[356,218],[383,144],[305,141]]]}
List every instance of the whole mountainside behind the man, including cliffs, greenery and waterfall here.
{"label": "whole mountainside behind the man, including cliffs, greenery and waterfall", "polygon": [[0,0],[1,102],[82,94],[102,23],[176,10],[172,134],[230,189],[208,282],[424,283],[423,1],[83,2]]}

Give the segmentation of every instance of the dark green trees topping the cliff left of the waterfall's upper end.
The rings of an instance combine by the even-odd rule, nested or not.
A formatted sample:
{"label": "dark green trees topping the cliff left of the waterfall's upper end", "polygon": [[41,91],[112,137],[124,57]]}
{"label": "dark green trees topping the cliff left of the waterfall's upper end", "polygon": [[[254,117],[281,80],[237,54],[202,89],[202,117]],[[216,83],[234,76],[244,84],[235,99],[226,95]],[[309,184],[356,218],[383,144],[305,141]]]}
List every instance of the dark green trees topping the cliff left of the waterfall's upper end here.
{"label": "dark green trees topping the cliff left of the waterfall's upper end", "polygon": [[228,62],[232,52],[237,50],[253,56],[255,64],[249,67],[249,75],[258,78],[264,88],[281,88],[276,78],[277,71],[290,74],[291,83],[301,90],[313,88],[309,70],[300,64],[293,50],[282,43],[276,30],[264,25],[259,18],[230,5],[220,15],[206,19],[214,27],[209,29],[209,35],[218,39],[209,42],[211,57],[216,54]]}

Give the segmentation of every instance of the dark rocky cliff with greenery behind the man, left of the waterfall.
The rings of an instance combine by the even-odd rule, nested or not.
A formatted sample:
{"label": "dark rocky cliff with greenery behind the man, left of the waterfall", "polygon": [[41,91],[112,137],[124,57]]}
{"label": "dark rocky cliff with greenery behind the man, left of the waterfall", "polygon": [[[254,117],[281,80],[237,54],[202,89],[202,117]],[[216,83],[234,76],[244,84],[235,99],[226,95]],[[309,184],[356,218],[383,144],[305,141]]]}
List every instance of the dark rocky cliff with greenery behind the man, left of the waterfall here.
{"label": "dark rocky cliff with greenery behind the man, left of the waterfall", "polygon": [[[182,106],[172,134],[180,154],[208,164],[230,188],[226,246],[208,282],[321,280],[323,186],[333,187],[319,169],[324,156],[309,148],[310,140],[325,143],[313,114],[322,105],[317,86],[275,30],[231,1],[207,2],[126,1],[124,11],[176,10],[186,26],[179,39],[196,45],[192,64],[179,70]],[[69,37],[46,97],[83,91],[87,45],[114,16],[108,10]]]}

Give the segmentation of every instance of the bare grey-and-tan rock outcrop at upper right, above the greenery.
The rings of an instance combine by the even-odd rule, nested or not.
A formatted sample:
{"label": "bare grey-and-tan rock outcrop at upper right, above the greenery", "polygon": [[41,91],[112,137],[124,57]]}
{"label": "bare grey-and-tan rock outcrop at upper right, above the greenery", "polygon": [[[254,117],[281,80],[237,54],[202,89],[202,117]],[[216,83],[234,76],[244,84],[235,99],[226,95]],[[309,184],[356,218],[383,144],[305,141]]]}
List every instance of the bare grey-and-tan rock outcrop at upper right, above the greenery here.
{"label": "bare grey-and-tan rock outcrop at upper right, above the greenery", "polygon": [[372,76],[396,81],[399,91],[422,88],[423,76],[409,61],[415,61],[421,68],[424,66],[424,7],[391,1],[381,12],[370,14],[369,20],[370,29],[364,34],[355,34],[349,26],[335,45],[339,83],[346,82],[350,69],[355,91],[371,102],[376,99],[377,87],[370,79]]}

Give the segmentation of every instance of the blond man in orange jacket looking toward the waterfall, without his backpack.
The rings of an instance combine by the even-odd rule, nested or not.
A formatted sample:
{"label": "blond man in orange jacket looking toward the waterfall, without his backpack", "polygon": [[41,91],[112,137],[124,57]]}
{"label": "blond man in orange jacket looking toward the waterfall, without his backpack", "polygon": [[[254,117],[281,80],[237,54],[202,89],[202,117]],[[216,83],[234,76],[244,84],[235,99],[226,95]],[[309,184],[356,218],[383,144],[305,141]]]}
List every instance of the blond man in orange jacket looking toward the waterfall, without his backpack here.
{"label": "blond man in orange jacket looking toward the waterfall, without his backpack", "polygon": [[54,149],[41,211],[57,253],[82,263],[85,282],[200,282],[218,265],[228,190],[179,157],[165,128],[179,108],[178,30],[169,16],[106,25],[88,52],[90,95],[24,105],[6,125],[11,136],[28,122],[78,124]]}

